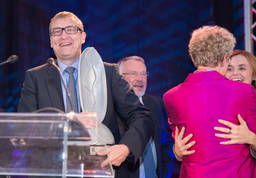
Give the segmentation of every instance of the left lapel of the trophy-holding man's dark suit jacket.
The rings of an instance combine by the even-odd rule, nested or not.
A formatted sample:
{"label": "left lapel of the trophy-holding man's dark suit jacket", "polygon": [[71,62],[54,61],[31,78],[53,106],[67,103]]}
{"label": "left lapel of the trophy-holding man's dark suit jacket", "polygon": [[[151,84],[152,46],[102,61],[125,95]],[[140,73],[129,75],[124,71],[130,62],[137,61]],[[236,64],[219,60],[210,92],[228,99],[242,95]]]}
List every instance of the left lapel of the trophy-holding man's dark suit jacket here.
{"label": "left lapel of the trophy-holding man's dark suit jacket", "polygon": [[58,71],[56,68],[50,66],[47,71],[47,74],[49,75],[45,78],[45,82],[46,87],[48,88],[48,93],[50,95],[52,107],[65,111],[61,81]]}

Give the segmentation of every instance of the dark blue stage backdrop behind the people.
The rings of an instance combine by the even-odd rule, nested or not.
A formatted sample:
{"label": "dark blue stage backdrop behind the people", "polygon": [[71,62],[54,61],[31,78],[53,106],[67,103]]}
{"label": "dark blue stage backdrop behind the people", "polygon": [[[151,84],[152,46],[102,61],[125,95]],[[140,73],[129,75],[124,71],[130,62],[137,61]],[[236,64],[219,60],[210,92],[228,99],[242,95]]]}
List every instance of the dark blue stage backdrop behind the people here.
{"label": "dark blue stage backdrop behind the people", "polygon": [[159,97],[195,70],[188,55],[193,29],[226,27],[238,41],[236,49],[244,49],[242,0],[0,0],[0,62],[19,57],[0,67],[0,108],[7,112],[17,110],[25,71],[55,58],[48,26],[60,11],[84,23],[82,50],[94,47],[108,63],[143,57],[150,72],[147,93]]}

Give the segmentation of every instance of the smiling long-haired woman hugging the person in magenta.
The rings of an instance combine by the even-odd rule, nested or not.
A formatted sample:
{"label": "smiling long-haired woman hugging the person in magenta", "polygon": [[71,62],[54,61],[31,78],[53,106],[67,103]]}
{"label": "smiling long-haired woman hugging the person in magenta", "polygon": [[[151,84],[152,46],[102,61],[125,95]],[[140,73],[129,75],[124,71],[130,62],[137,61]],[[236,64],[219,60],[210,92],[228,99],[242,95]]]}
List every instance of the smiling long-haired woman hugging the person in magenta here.
{"label": "smiling long-haired woman hugging the person in magenta", "polygon": [[[230,58],[232,60],[228,64],[228,70],[225,74],[226,78],[252,84],[256,90],[256,57],[248,51],[235,50],[232,55],[230,55]],[[256,157],[256,134],[248,129],[246,122],[240,115],[238,115],[238,120],[240,125],[220,119],[219,122],[229,128],[214,127],[214,129],[229,134],[216,133],[215,135],[216,137],[230,139],[228,141],[220,142],[222,145],[249,144],[252,155]]]}

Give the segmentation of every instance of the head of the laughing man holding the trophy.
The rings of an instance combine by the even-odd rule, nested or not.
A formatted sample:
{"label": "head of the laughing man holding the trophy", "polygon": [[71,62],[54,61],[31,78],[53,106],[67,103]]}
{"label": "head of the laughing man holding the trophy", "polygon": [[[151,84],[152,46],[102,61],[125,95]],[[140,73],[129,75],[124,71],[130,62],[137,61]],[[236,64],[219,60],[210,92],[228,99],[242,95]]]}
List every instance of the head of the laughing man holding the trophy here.
{"label": "head of the laughing man holding the trophy", "polygon": [[63,16],[64,14],[52,18],[49,27],[50,41],[58,63],[71,66],[80,58],[86,33],[82,22],[76,16]]}

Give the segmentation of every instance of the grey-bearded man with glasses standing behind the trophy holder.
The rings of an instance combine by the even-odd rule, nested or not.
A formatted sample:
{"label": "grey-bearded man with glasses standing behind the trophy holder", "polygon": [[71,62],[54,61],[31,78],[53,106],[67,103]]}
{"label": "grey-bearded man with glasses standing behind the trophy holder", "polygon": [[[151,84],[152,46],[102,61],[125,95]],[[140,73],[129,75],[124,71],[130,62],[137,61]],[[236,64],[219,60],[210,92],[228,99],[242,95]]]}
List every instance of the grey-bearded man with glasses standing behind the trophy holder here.
{"label": "grey-bearded man with glasses standing behind the trophy holder", "polygon": [[[131,89],[140,99],[140,102],[151,110],[155,122],[153,136],[150,138],[144,153],[136,164],[128,163],[131,178],[170,178],[174,155],[172,153],[173,141],[167,122],[168,117],[162,98],[145,94],[147,88],[147,72],[144,59],[138,56],[126,57],[118,61],[120,74],[130,84]],[[126,128],[119,122],[121,132]],[[122,133],[121,133],[122,134]]]}

